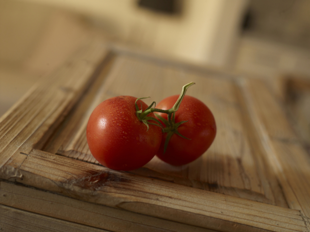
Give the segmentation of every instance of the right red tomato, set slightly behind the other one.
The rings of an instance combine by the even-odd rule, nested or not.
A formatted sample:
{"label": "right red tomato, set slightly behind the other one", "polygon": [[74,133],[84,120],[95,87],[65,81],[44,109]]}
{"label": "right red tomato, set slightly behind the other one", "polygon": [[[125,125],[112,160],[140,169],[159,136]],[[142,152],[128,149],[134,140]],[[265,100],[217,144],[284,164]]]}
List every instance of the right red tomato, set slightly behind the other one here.
{"label": "right red tomato, set slightly behind the other one", "polygon": [[[179,95],[170,96],[162,100],[158,109],[167,110],[173,107]],[[167,119],[168,115],[157,113]],[[197,98],[185,95],[179,110],[175,115],[175,123],[188,121],[179,126],[178,131],[185,139],[177,134],[173,134],[166,152],[164,144],[167,133],[163,135],[161,147],[157,156],[163,161],[175,166],[190,163],[200,157],[212,144],[216,135],[215,119],[210,109]],[[165,127],[165,125],[163,124]]]}

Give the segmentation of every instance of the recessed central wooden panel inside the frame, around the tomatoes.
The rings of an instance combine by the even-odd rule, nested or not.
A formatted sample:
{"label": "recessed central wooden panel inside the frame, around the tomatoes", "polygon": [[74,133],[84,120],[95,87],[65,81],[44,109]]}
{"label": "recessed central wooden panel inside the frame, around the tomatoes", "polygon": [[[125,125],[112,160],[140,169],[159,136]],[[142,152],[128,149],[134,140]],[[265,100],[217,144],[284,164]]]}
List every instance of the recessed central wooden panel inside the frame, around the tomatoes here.
{"label": "recessed central wooden panel inside the frame, around the tomatoes", "polygon": [[180,94],[181,87],[190,81],[197,85],[188,94],[205,102],[215,115],[214,144],[189,165],[174,167],[154,157],[133,173],[287,207],[274,173],[267,163],[258,161],[261,152],[250,142],[243,118],[246,108],[241,104],[243,96],[238,95],[237,84],[233,79],[212,73],[206,75],[150,60],[116,56],[89,91],[92,95],[79,102],[43,150],[98,164],[88,149],[86,125],[101,101],[119,95],[152,96],[145,100],[150,103]]}

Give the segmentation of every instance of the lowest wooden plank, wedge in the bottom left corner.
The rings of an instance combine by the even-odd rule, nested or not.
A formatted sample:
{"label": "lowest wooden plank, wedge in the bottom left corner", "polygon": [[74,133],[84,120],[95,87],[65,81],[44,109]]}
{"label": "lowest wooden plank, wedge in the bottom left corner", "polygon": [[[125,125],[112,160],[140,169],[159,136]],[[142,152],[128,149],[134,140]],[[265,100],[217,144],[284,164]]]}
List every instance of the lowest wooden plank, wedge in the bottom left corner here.
{"label": "lowest wooden plank, wedge in the bottom left corner", "polygon": [[0,231],[104,232],[109,230],[81,225],[0,204]]}

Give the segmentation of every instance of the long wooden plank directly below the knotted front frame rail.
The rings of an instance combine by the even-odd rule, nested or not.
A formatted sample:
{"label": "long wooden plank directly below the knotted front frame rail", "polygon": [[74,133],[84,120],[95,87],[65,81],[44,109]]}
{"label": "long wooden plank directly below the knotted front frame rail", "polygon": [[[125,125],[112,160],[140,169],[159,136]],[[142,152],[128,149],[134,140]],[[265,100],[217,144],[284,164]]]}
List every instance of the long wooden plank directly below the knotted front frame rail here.
{"label": "long wooden plank directly below the knotted front frame rail", "polygon": [[[98,227],[108,229],[109,231],[215,231],[129,212],[120,208],[79,201],[59,194],[7,182],[1,182],[0,202],[5,205],[48,215],[48,220],[51,221],[59,221],[59,219],[55,218],[60,218],[65,220],[65,222],[72,221],[74,225],[84,224],[93,226],[91,228]],[[35,217],[40,219],[42,215],[36,215]],[[51,217],[53,218],[50,219]],[[88,228],[88,226],[86,227]],[[94,228],[94,231],[97,230]]]}

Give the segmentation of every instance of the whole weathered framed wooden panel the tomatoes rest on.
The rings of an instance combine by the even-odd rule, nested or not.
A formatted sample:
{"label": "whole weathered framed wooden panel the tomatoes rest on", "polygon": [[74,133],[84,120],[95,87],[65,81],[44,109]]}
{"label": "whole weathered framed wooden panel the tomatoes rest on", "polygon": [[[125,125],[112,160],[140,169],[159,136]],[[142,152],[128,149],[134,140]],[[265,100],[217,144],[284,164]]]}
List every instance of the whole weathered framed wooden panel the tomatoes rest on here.
{"label": "whole weathered framed wooden panel the tomatoes rest on", "polygon": [[[155,157],[131,172],[96,162],[85,128],[97,104],[118,95],[160,101],[191,81],[196,85],[187,94],[205,102],[217,123],[216,139],[201,158],[174,167]],[[0,119],[0,157],[2,179],[48,190],[47,200],[58,193],[81,205],[186,224],[188,231],[310,229],[309,154],[283,101],[265,82],[122,52],[100,41],[82,47]],[[8,186],[2,182],[2,191],[14,189]],[[62,214],[12,200],[1,195],[0,203],[56,218]]]}

